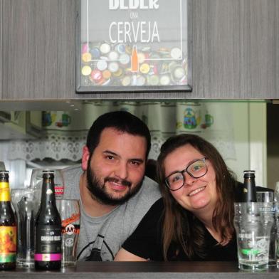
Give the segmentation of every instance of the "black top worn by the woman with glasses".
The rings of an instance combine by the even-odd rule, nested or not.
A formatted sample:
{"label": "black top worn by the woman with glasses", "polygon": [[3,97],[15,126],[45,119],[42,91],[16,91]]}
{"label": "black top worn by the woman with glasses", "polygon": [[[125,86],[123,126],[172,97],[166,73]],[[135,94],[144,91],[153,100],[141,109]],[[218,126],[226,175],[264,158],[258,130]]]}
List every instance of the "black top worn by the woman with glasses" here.
{"label": "black top worn by the woman with glasses", "polygon": [[[159,199],[147,212],[134,233],[122,245],[126,251],[147,260],[164,260],[162,252],[162,212],[164,204]],[[198,221],[196,219],[196,221]],[[237,260],[236,236],[226,246],[221,246],[203,223],[199,226],[204,232],[203,256],[194,255],[188,258],[178,243],[171,243],[168,251],[168,260]],[[194,224],[193,224],[194,225]],[[188,240],[189,241],[189,240]],[[179,251],[179,253],[177,253]]]}

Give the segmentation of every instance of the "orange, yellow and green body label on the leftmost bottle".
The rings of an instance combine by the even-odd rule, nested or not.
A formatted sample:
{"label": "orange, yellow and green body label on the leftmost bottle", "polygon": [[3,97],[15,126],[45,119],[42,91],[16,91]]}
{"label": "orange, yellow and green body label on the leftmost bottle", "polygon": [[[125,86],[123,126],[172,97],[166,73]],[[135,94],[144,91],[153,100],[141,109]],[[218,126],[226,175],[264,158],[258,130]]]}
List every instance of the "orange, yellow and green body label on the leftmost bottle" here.
{"label": "orange, yellow and green body label on the leftmost bottle", "polygon": [[16,262],[16,226],[0,226],[0,263]]}

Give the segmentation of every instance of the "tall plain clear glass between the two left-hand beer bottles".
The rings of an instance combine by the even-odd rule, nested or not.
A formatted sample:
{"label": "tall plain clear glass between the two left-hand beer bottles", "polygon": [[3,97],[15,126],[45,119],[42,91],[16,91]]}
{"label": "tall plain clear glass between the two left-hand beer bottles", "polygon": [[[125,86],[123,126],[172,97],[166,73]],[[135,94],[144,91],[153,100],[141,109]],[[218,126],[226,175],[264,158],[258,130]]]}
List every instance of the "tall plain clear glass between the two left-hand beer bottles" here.
{"label": "tall plain clear glass between the two left-hand beer bottles", "polygon": [[11,189],[11,204],[17,221],[16,263],[26,268],[34,265],[34,228],[39,201],[38,189]]}

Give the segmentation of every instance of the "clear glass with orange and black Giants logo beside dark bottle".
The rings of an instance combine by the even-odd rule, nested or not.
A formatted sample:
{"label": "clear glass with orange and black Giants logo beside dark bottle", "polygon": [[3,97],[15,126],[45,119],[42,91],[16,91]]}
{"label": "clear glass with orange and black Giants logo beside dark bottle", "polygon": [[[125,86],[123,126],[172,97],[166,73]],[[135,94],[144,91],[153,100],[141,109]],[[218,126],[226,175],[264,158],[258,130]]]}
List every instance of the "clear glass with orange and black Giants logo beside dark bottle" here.
{"label": "clear glass with orange and black Giants logo beside dark bottle", "polygon": [[60,199],[56,206],[62,222],[62,266],[75,265],[80,233],[80,205],[77,199]]}

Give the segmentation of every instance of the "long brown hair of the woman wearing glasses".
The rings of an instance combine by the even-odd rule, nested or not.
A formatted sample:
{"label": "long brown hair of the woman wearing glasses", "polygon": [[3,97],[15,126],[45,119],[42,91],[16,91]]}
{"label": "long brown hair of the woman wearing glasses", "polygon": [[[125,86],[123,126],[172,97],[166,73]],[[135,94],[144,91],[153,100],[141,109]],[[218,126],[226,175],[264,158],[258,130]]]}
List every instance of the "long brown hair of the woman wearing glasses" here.
{"label": "long brown hair of the woman wearing glasses", "polygon": [[[216,174],[216,191],[219,196],[214,209],[212,221],[215,230],[221,236],[221,243],[229,241],[233,235],[233,201],[236,179],[232,172],[226,167],[218,150],[202,137],[197,135],[182,134],[167,139],[161,147],[158,157],[157,175],[159,186],[164,200],[163,221],[163,252],[164,260],[168,260],[168,251],[171,243],[181,246],[186,256],[191,258],[194,254],[204,255],[204,235],[201,223],[193,214],[182,208],[174,199],[167,188],[164,178],[164,160],[167,155],[175,149],[190,144],[201,152],[214,167]],[[186,166],[185,166],[186,167]],[[178,252],[178,251],[177,251]]]}

